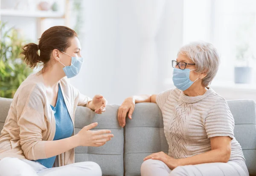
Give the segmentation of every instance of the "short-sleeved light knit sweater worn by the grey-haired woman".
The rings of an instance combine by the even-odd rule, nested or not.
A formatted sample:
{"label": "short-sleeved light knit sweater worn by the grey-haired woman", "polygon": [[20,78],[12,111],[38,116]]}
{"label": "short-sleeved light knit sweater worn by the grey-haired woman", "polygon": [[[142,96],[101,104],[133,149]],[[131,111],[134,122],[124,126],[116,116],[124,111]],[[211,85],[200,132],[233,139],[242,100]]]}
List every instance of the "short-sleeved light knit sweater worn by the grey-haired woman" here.
{"label": "short-sleeved light knit sweater worn by the grey-haired woman", "polygon": [[157,96],[157,105],[163,114],[169,156],[180,159],[204,153],[211,150],[209,138],[230,136],[230,160],[245,160],[234,137],[234,118],[227,102],[211,88],[197,97],[188,97],[177,88],[167,90]]}

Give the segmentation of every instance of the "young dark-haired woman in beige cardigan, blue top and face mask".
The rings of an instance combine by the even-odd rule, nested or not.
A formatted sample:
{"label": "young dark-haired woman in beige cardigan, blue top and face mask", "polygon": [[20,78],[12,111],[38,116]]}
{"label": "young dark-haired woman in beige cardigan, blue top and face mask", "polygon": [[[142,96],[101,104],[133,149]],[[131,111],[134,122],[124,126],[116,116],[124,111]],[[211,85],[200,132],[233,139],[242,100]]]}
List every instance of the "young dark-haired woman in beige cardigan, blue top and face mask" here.
{"label": "young dark-haired woman in beige cardigan, blue top and face mask", "polygon": [[94,162],[74,164],[75,147],[99,147],[113,137],[109,130],[90,131],[97,123],[74,135],[78,105],[102,114],[107,103],[102,95],[90,99],[80,94],[67,81],[65,76],[81,70],[80,50],[76,32],[65,26],[49,28],[38,45],[23,47],[27,65],[35,68],[42,62],[44,67],[30,75],[13,98],[0,135],[0,176],[102,175]]}

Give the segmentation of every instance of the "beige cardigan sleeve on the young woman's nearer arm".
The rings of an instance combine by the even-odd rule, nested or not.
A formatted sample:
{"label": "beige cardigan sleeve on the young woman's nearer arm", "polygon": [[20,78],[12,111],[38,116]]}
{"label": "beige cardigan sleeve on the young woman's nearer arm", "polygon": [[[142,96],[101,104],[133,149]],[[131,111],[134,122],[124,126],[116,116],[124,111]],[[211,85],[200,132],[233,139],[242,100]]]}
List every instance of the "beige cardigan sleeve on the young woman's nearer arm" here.
{"label": "beige cardigan sleeve on the young woman's nearer arm", "polygon": [[17,98],[17,124],[20,127],[20,145],[29,160],[45,159],[42,131],[47,130],[44,117],[44,92],[36,85],[23,87]]}

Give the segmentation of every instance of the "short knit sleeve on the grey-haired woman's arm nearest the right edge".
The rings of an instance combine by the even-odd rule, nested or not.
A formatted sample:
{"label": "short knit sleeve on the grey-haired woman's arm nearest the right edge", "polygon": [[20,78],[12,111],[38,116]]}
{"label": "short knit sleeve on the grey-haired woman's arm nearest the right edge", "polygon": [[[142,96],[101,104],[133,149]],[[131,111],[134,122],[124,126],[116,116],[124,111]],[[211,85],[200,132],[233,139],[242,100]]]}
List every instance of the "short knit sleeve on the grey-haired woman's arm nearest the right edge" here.
{"label": "short knit sleeve on the grey-haired woman's arm nearest the right edge", "polygon": [[208,138],[230,136],[234,138],[235,122],[225,99],[215,102],[205,119],[205,130]]}

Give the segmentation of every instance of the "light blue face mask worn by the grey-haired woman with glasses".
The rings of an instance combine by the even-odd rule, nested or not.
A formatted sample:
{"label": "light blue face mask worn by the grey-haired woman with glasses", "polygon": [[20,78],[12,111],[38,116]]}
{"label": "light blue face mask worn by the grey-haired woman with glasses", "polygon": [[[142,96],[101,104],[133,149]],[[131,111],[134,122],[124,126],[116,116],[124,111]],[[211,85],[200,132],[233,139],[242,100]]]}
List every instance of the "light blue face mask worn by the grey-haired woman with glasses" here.
{"label": "light blue face mask worn by the grey-haired woman with glasses", "polygon": [[[196,69],[194,69],[196,70]],[[194,82],[189,79],[190,70],[188,68],[181,70],[179,68],[174,68],[172,81],[176,88],[180,89],[181,91],[186,91]]]}

